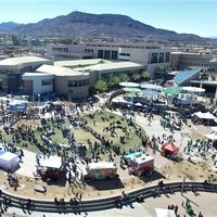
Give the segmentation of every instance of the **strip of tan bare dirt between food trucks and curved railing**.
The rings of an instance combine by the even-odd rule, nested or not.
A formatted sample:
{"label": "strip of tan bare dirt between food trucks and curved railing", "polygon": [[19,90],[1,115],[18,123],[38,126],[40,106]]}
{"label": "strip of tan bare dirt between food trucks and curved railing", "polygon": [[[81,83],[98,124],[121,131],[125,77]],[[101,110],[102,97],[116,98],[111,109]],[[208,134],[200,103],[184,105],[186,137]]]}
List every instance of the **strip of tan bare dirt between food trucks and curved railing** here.
{"label": "strip of tan bare dirt between food trucks and curved railing", "polygon": [[[95,181],[88,184],[73,184],[72,187],[68,183],[52,183],[48,184],[41,180],[35,180],[23,176],[17,176],[20,180],[21,189],[14,191],[13,188],[10,188],[7,181],[7,173],[0,171],[1,183],[5,183],[7,191],[26,196],[26,197],[36,197],[43,200],[52,200],[53,197],[74,197],[76,192],[82,193],[84,199],[93,199],[99,196],[110,196],[114,194],[120,194],[123,190],[126,192],[142,188],[149,184],[157,183],[159,178],[165,177],[164,181],[178,181],[183,180],[183,177],[187,177],[187,180],[205,180],[208,178],[217,180],[217,174],[207,168],[207,165],[201,162],[187,162],[181,163],[169,162],[167,165],[161,168],[157,173],[151,178],[137,178],[130,177],[126,180],[105,180]],[[47,193],[37,193],[34,191],[36,184],[44,184],[47,188]]]}

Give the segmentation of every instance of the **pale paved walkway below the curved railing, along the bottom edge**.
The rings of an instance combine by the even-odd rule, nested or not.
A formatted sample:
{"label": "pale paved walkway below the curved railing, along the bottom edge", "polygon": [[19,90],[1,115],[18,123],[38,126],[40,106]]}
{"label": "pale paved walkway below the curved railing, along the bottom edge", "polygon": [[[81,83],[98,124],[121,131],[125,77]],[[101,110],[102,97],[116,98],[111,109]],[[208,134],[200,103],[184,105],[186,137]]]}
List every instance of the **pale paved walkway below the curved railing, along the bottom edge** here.
{"label": "pale paved walkway below the curved railing, along the bottom edge", "polygon": [[[202,212],[202,214],[205,217],[216,217],[216,201],[217,201],[217,194],[216,193],[205,193],[202,192],[200,195],[195,196],[192,192],[184,193],[181,195],[180,193],[176,193],[174,195],[165,196],[162,195],[161,197],[150,197],[146,199],[143,203],[135,203],[132,206],[124,206],[122,209],[112,208],[108,210],[99,210],[99,212],[92,212],[88,214],[42,214],[38,212],[34,212],[31,214],[24,213],[21,209],[17,208],[9,208],[8,213],[16,213],[17,215],[22,217],[26,216],[33,216],[33,217],[59,217],[59,216],[80,216],[80,217],[153,217],[154,208],[167,208],[168,205],[177,205],[178,206],[178,214],[182,217],[186,215],[187,217],[190,217],[186,213],[184,206],[182,206],[182,203],[184,205],[186,201],[190,200],[190,204],[192,206],[192,209],[199,215],[199,212]],[[3,215],[4,216],[4,215]],[[2,216],[2,217],[3,217]]]}

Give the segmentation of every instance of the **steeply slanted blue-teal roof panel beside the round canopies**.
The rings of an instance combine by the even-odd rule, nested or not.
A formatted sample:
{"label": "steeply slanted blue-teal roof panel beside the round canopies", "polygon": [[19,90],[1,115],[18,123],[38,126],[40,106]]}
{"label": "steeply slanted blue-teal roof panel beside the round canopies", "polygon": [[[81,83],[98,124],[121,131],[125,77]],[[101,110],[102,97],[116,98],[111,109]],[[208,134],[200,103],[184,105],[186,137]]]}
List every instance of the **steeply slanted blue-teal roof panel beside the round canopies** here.
{"label": "steeply slanted blue-teal roof panel beside the round canopies", "polygon": [[205,68],[196,67],[196,68],[188,68],[184,71],[179,71],[178,74],[174,77],[174,81],[177,85],[181,85],[186,80],[190,79],[192,76],[199,74],[202,69],[205,69]]}

